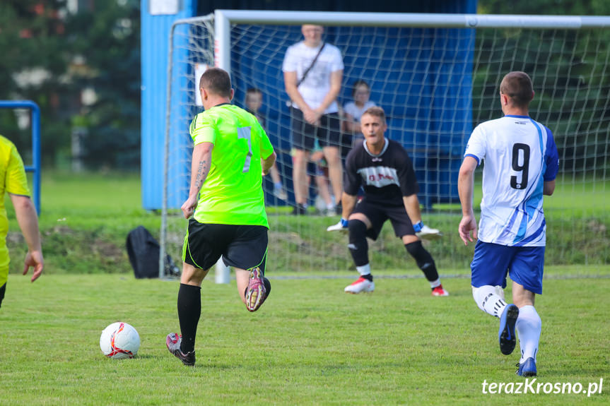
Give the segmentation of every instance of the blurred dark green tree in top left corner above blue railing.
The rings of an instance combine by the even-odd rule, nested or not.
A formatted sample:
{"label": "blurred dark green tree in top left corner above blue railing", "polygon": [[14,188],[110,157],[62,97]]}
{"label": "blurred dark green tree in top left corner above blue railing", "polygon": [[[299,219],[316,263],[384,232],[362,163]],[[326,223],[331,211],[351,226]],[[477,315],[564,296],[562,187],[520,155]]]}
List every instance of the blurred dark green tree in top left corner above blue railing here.
{"label": "blurred dark green tree in top left corner above blue railing", "polygon": [[[42,4],[42,9],[37,8]],[[66,73],[69,55],[61,42],[63,25],[54,18],[59,1],[0,2],[0,99],[33,100],[41,110],[43,160],[50,163],[60,145],[69,141],[69,126],[61,114],[58,95],[68,90],[61,77]],[[35,69],[47,71],[42,81],[30,82]],[[25,83],[18,83],[16,75]],[[68,93],[69,94],[69,93]],[[31,148],[30,133],[17,131],[14,117],[0,116],[2,134],[20,151]],[[51,161],[52,162],[52,161]]]}

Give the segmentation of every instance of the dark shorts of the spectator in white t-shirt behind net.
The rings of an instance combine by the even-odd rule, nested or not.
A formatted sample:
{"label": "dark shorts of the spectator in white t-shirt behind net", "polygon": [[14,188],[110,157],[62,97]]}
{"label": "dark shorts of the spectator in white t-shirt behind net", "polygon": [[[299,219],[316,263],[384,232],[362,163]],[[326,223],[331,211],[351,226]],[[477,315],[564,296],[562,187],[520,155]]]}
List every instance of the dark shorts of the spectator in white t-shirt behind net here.
{"label": "dark shorts of the spectator in white t-shirt behind net", "polygon": [[293,148],[310,151],[317,141],[321,147],[341,147],[341,120],[339,113],[323,114],[320,125],[314,126],[303,119],[303,112],[291,108]]}

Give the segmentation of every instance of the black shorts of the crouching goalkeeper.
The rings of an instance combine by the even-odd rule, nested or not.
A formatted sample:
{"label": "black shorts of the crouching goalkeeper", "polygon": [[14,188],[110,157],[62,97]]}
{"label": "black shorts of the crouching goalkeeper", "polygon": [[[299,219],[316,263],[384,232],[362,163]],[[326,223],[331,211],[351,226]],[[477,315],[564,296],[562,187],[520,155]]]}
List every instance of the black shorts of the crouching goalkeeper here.
{"label": "black shorts of the crouching goalkeeper", "polygon": [[356,207],[353,209],[353,213],[362,213],[368,220],[370,220],[371,227],[366,232],[366,237],[371,239],[377,239],[379,233],[383,227],[385,220],[389,219],[394,227],[394,234],[396,237],[402,237],[404,235],[415,235],[413,224],[409,215],[406,214],[404,205],[383,205],[381,203],[370,203],[366,201],[366,197],[356,203]]}

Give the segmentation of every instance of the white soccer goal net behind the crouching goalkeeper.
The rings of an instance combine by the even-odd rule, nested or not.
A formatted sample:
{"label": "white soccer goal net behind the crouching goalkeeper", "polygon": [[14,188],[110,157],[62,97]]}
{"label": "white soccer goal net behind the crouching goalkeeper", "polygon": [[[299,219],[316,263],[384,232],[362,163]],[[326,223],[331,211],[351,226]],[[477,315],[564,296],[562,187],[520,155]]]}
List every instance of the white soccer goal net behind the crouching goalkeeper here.
{"label": "white soccer goal net behind the crouching goalkeeper", "polygon": [[[282,16],[286,23],[278,22]],[[259,112],[278,153],[278,172],[288,199],[278,198],[274,182],[264,179],[270,267],[353,268],[346,237],[325,231],[339,217],[319,211],[324,204],[317,197],[314,176],[309,212],[290,214],[295,204],[291,120],[281,66],[288,46],[302,40],[299,24],[308,22],[324,25],[324,41],[339,47],[343,55],[339,105],[353,100],[356,80],[365,80],[370,101],[387,113],[387,137],[409,152],[420,184],[424,222],[445,234],[428,245],[441,274],[443,268],[467,268],[471,260],[471,248],[464,248],[457,235],[457,172],[474,126],[501,116],[498,88],[509,71],[525,71],[532,77],[536,95],[530,114],[553,131],[560,153],[556,193],[545,199],[547,263],[609,263],[609,20],[585,24],[580,18],[550,16],[401,16],[381,14],[373,21],[372,15],[359,13],[276,16],[254,11],[225,21],[225,32],[219,32],[223,25],[219,28],[218,17],[178,22],[170,54],[164,249],[180,256],[187,223],[176,209],[188,192],[189,124],[202,110],[197,77],[205,66],[214,65],[216,56],[216,65],[230,70],[236,105],[245,107],[248,88],[261,90]],[[343,139],[353,142],[350,136]],[[477,173],[480,181],[481,171]],[[380,239],[371,242],[373,268],[416,270],[395,240],[387,225]]]}

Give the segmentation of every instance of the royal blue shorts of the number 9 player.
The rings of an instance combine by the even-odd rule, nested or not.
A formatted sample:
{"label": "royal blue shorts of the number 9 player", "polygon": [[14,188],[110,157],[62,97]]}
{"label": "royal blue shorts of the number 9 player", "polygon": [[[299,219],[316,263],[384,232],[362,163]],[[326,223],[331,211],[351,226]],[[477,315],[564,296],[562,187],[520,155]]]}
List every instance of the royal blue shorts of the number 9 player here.
{"label": "royal blue shorts of the number 9 player", "polygon": [[544,246],[505,246],[476,241],[471,285],[506,287],[506,275],[529,292],[542,294]]}

